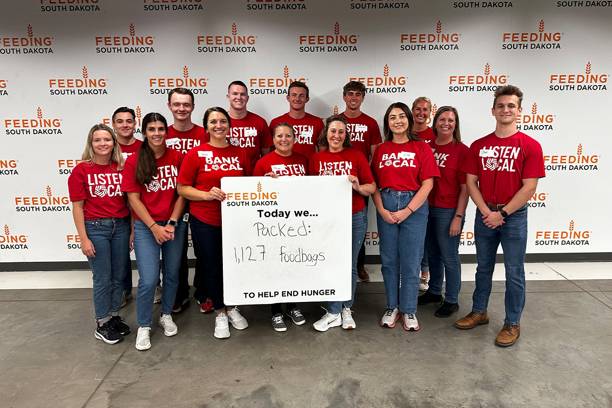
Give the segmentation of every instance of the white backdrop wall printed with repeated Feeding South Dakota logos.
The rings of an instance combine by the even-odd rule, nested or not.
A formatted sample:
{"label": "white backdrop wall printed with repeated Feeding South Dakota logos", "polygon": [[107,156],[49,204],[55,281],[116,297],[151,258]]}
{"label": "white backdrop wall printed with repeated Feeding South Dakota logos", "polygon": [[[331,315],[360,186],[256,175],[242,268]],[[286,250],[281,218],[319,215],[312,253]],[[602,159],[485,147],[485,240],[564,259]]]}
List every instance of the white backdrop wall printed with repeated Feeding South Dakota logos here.
{"label": "white backdrop wall printed with repeated Feeding South Dakota logos", "polygon": [[[319,117],[344,111],[342,87],[362,81],[362,111],[381,128],[390,103],[425,95],[434,111],[458,109],[468,145],[494,129],[494,89],[515,84],[517,126],[547,169],[529,201],[528,253],[609,253],[612,221],[599,213],[612,201],[612,143],[596,113],[612,106],[610,21],[610,1],[1,1],[0,262],[85,261],[67,178],[92,125],[119,106],[139,127],[152,111],[171,124],[176,86],[194,92],[201,124],[207,108],[228,108],[234,80],[267,121],[288,111],[293,80]],[[463,254],[476,253],[474,211]],[[367,254],[378,254],[373,206],[369,217]]]}

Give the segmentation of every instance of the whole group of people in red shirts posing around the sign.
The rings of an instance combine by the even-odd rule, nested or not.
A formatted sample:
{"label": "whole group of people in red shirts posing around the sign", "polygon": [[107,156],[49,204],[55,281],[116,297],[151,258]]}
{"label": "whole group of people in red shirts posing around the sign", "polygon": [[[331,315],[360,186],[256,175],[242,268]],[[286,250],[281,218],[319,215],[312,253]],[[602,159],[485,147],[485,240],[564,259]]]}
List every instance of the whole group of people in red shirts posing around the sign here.
{"label": "whole group of people in red shirts posing around the sign", "polygon": [[[356,328],[351,311],[356,282],[369,280],[364,239],[370,196],[387,295],[380,324],[394,327],[401,318],[405,330],[419,330],[417,305],[427,303],[438,303],[438,317],[457,312],[458,247],[471,197],[477,206],[476,290],[472,310],[455,327],[488,323],[491,278],[501,243],[506,319],[495,343],[514,344],[525,300],[526,202],[545,176],[542,148],[515,125],[523,99],[520,89],[497,88],[491,109],[496,129],[469,148],[461,142],[459,114],[452,106],[438,108],[427,126],[427,97],[417,98],[411,108],[392,103],[383,118],[383,141],[376,120],[360,110],[364,84],[347,83],[345,111],[324,121],[305,111],[308,92],[306,84],[291,83],[288,113],[267,124],[247,111],[247,86],[234,81],[228,87],[229,111],[207,109],[200,127],[191,120],[192,92],[176,88],[168,94],[173,125],[159,113],[146,114],[141,121],[143,141],[133,136],[136,117],[127,107],[114,112],[113,128],[91,128],[82,161],[68,184],[81,250],[93,275],[95,337],[114,344],[130,333],[119,311],[132,297],[131,250],[139,275],[136,349],[151,347],[154,303],[162,303],[159,325],[164,334],[177,334],[171,314],[187,305],[190,294],[188,229],[196,256],[193,297],[202,313],[216,313],[215,337],[228,338],[230,324],[247,328],[236,305],[226,305],[223,299],[221,202],[226,194],[221,178],[340,174],[353,187],[352,295],[329,302],[327,313],[313,324],[316,330]],[[231,165],[211,166],[223,162]],[[422,264],[428,265],[428,273]],[[424,294],[419,296],[419,289]],[[296,303],[287,303],[285,311],[294,324],[305,323]],[[286,330],[279,303],[272,305],[272,327]]]}

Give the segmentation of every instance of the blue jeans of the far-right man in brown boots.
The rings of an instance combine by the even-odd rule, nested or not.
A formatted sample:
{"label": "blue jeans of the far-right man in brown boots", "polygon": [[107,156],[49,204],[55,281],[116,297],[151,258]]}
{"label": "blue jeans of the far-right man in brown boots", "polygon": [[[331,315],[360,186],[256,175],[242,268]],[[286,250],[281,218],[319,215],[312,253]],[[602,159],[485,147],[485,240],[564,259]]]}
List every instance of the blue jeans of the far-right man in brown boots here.
{"label": "blue jeans of the far-right man in brown boots", "polygon": [[511,325],[520,324],[525,307],[525,251],[527,250],[527,205],[510,214],[498,228],[488,228],[482,213],[476,210],[474,241],[476,243],[476,289],[472,295],[472,311],[485,313],[491,294],[491,281],[499,243],[504,251],[506,267],[506,319]]}

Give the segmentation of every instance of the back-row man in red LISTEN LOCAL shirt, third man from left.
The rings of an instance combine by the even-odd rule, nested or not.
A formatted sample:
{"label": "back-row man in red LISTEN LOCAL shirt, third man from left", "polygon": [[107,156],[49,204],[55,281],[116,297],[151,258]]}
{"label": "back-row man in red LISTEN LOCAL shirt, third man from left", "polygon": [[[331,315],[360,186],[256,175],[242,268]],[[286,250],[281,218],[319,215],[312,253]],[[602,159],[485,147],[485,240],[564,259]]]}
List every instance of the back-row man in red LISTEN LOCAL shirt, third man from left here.
{"label": "back-row man in red LISTEN LOCAL shirt, third man from left", "polygon": [[242,81],[233,81],[228,86],[231,128],[228,139],[234,146],[247,149],[251,163],[255,165],[260,157],[270,152],[273,146],[270,129],[263,117],[247,111],[248,89]]}

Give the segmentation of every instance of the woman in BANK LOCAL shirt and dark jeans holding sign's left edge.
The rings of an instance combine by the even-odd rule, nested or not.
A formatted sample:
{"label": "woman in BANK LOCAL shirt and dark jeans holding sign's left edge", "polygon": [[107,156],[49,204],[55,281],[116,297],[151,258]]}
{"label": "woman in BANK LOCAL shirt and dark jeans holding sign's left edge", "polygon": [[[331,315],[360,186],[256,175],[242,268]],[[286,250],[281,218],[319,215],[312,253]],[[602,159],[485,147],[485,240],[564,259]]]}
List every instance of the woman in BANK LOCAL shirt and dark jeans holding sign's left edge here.
{"label": "woman in BANK LOCAL shirt and dark jeans holding sign's left edge", "polygon": [[[208,143],[189,150],[179,174],[178,191],[191,200],[192,238],[206,262],[206,289],[212,300],[215,317],[215,337],[230,337],[230,325],[238,330],[248,327],[235,306],[223,301],[223,248],[221,234],[222,177],[250,176],[253,166],[247,150],[230,144],[226,136],[231,119],[225,109],[215,106],[204,113],[204,127],[211,135]],[[228,165],[227,162],[231,163]]]}

